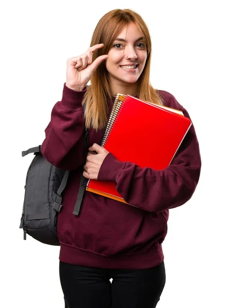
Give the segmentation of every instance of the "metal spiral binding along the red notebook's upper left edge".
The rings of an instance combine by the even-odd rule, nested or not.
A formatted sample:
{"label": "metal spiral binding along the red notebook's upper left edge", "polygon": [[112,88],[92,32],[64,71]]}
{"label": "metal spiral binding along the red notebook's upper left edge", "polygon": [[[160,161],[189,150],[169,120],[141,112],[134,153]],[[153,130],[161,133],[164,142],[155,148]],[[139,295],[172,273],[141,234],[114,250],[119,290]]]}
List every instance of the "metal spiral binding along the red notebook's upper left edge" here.
{"label": "metal spiral binding along the red notebook's upper left edge", "polygon": [[126,95],[119,94],[119,93],[116,95],[116,99],[115,99],[115,102],[113,104],[113,107],[112,107],[112,110],[111,110],[111,113],[110,113],[110,117],[109,117],[107,125],[106,125],[104,135],[101,139],[101,146],[103,146],[103,147],[106,144],[106,141],[107,141],[108,136],[109,136],[109,134],[112,130],[113,125],[117,121],[118,115],[120,114],[120,110],[122,109],[125,100],[126,100]]}

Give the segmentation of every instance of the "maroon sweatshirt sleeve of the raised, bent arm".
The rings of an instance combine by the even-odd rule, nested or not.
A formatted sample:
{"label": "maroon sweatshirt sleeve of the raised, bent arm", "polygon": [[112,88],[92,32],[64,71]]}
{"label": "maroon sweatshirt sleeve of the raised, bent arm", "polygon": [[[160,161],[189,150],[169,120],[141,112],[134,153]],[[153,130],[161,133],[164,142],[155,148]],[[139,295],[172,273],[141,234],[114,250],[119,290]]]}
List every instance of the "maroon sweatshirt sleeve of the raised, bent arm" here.
{"label": "maroon sweatshirt sleeve of the raised, bent arm", "polygon": [[62,100],[52,109],[41,151],[56,167],[73,170],[83,164],[85,93],[86,90],[73,91],[64,84]]}

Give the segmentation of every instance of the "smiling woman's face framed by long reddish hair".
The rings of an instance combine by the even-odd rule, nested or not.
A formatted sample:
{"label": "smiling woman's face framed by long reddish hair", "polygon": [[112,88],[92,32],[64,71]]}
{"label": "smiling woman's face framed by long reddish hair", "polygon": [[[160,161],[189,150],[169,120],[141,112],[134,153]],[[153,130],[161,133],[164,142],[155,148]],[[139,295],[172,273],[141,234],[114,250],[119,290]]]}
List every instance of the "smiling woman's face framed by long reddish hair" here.
{"label": "smiling woman's face framed by long reddish hair", "polygon": [[106,68],[111,86],[134,84],[141,75],[147,58],[145,38],[134,23],[117,35],[108,52]]}

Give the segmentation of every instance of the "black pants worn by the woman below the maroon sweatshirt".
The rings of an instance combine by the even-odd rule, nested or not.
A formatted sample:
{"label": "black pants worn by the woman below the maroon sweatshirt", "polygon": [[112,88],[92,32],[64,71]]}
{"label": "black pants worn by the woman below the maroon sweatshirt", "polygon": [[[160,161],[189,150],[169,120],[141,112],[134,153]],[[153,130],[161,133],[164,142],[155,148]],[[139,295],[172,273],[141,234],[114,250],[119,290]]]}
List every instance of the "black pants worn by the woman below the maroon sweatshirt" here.
{"label": "black pants worn by the woman below the maroon sweatshirt", "polygon": [[148,269],[60,262],[60,281],[69,308],[155,308],[165,285],[165,267],[164,262]]}

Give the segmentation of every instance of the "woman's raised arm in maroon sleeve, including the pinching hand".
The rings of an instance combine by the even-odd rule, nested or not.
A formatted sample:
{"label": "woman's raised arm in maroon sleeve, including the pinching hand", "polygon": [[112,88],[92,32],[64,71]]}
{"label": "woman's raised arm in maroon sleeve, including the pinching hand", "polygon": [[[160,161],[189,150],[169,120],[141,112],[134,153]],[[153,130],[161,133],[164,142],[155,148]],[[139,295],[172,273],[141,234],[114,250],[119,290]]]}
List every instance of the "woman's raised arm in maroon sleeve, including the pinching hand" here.
{"label": "woman's raised arm in maroon sleeve, including the pinching hand", "polygon": [[46,138],[41,148],[47,161],[56,167],[72,170],[84,162],[82,100],[86,91],[83,89],[92,73],[108,57],[103,54],[92,62],[93,52],[102,47],[103,44],[91,46],[80,56],[67,60],[63,98],[52,109],[51,122],[45,130]]}

